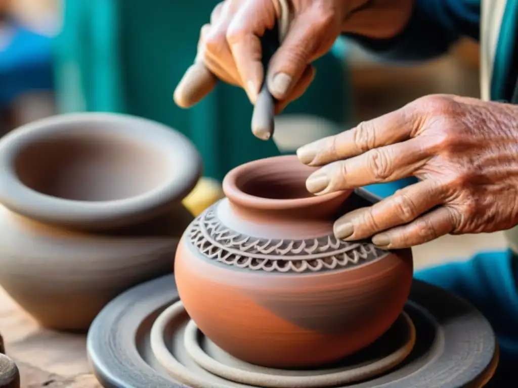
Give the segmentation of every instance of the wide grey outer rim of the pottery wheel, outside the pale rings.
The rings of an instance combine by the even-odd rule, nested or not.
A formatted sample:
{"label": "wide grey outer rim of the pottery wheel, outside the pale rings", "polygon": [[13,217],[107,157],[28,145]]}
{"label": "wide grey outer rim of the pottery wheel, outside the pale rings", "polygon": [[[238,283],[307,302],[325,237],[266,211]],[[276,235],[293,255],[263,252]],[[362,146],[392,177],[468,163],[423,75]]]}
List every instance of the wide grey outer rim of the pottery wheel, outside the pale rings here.
{"label": "wide grey outer rim of the pottery wheel, outside the pale rings", "polygon": [[[122,293],[100,312],[90,327],[87,349],[105,387],[186,386],[149,366],[138,350],[146,345],[136,343],[142,322],[178,300],[174,276],[167,275]],[[414,280],[407,309],[435,327],[436,338],[426,355],[378,378],[348,384],[348,388],[429,388],[430,381],[441,388],[458,388],[487,382],[494,372],[497,345],[490,324],[478,310],[418,280]]]}

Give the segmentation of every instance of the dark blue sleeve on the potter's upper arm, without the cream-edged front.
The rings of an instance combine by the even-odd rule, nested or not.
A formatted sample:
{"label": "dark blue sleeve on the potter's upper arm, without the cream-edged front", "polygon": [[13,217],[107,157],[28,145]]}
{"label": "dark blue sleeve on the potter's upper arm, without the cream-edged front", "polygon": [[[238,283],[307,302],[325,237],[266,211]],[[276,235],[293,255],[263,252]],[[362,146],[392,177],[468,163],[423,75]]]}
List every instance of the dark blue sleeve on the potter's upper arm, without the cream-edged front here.
{"label": "dark blue sleeve on the potter's upper arm, without the cream-edged front", "polygon": [[390,39],[344,34],[366,50],[397,61],[438,57],[463,36],[479,40],[480,0],[415,0],[407,26]]}

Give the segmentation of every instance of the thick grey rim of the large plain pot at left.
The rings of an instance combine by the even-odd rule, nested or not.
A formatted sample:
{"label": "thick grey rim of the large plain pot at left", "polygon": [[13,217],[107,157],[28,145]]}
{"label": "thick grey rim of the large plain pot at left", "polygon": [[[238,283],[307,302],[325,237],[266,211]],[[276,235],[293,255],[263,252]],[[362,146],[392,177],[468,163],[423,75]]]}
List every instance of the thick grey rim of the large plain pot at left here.
{"label": "thick grey rim of the large plain pot at left", "polygon": [[[163,151],[169,158],[167,163],[178,166],[174,178],[142,195],[104,202],[64,200],[43,195],[18,180],[13,162],[24,147],[74,128],[96,124],[102,125],[109,133],[145,142]],[[187,195],[202,172],[198,151],[181,133],[145,118],[116,113],[63,114],[24,125],[0,140],[0,166],[0,202],[11,211],[53,225],[91,227],[97,223],[107,226],[123,223],[129,217],[154,215],[156,210]]]}

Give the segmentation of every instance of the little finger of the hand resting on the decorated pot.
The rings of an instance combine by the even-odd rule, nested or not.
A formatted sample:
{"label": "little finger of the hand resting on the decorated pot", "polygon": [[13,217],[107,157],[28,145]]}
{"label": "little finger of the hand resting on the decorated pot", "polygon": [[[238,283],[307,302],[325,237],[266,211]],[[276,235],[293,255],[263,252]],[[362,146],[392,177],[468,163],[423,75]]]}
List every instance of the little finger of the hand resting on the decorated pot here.
{"label": "little finger of the hand resting on the decorated pot", "polygon": [[410,248],[451,233],[453,228],[450,208],[440,206],[405,226],[376,234],[372,237],[372,243],[384,249]]}

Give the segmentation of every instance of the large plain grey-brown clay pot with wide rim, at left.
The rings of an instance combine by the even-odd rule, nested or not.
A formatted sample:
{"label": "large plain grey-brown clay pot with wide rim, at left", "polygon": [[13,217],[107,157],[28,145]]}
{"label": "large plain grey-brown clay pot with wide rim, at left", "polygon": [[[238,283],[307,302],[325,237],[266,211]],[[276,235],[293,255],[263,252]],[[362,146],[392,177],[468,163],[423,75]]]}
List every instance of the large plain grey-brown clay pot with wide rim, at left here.
{"label": "large plain grey-brown clay pot with wide rim, at left", "polygon": [[114,296],[169,273],[200,158],[142,118],[84,113],[0,141],[0,285],[41,325],[84,330]]}

